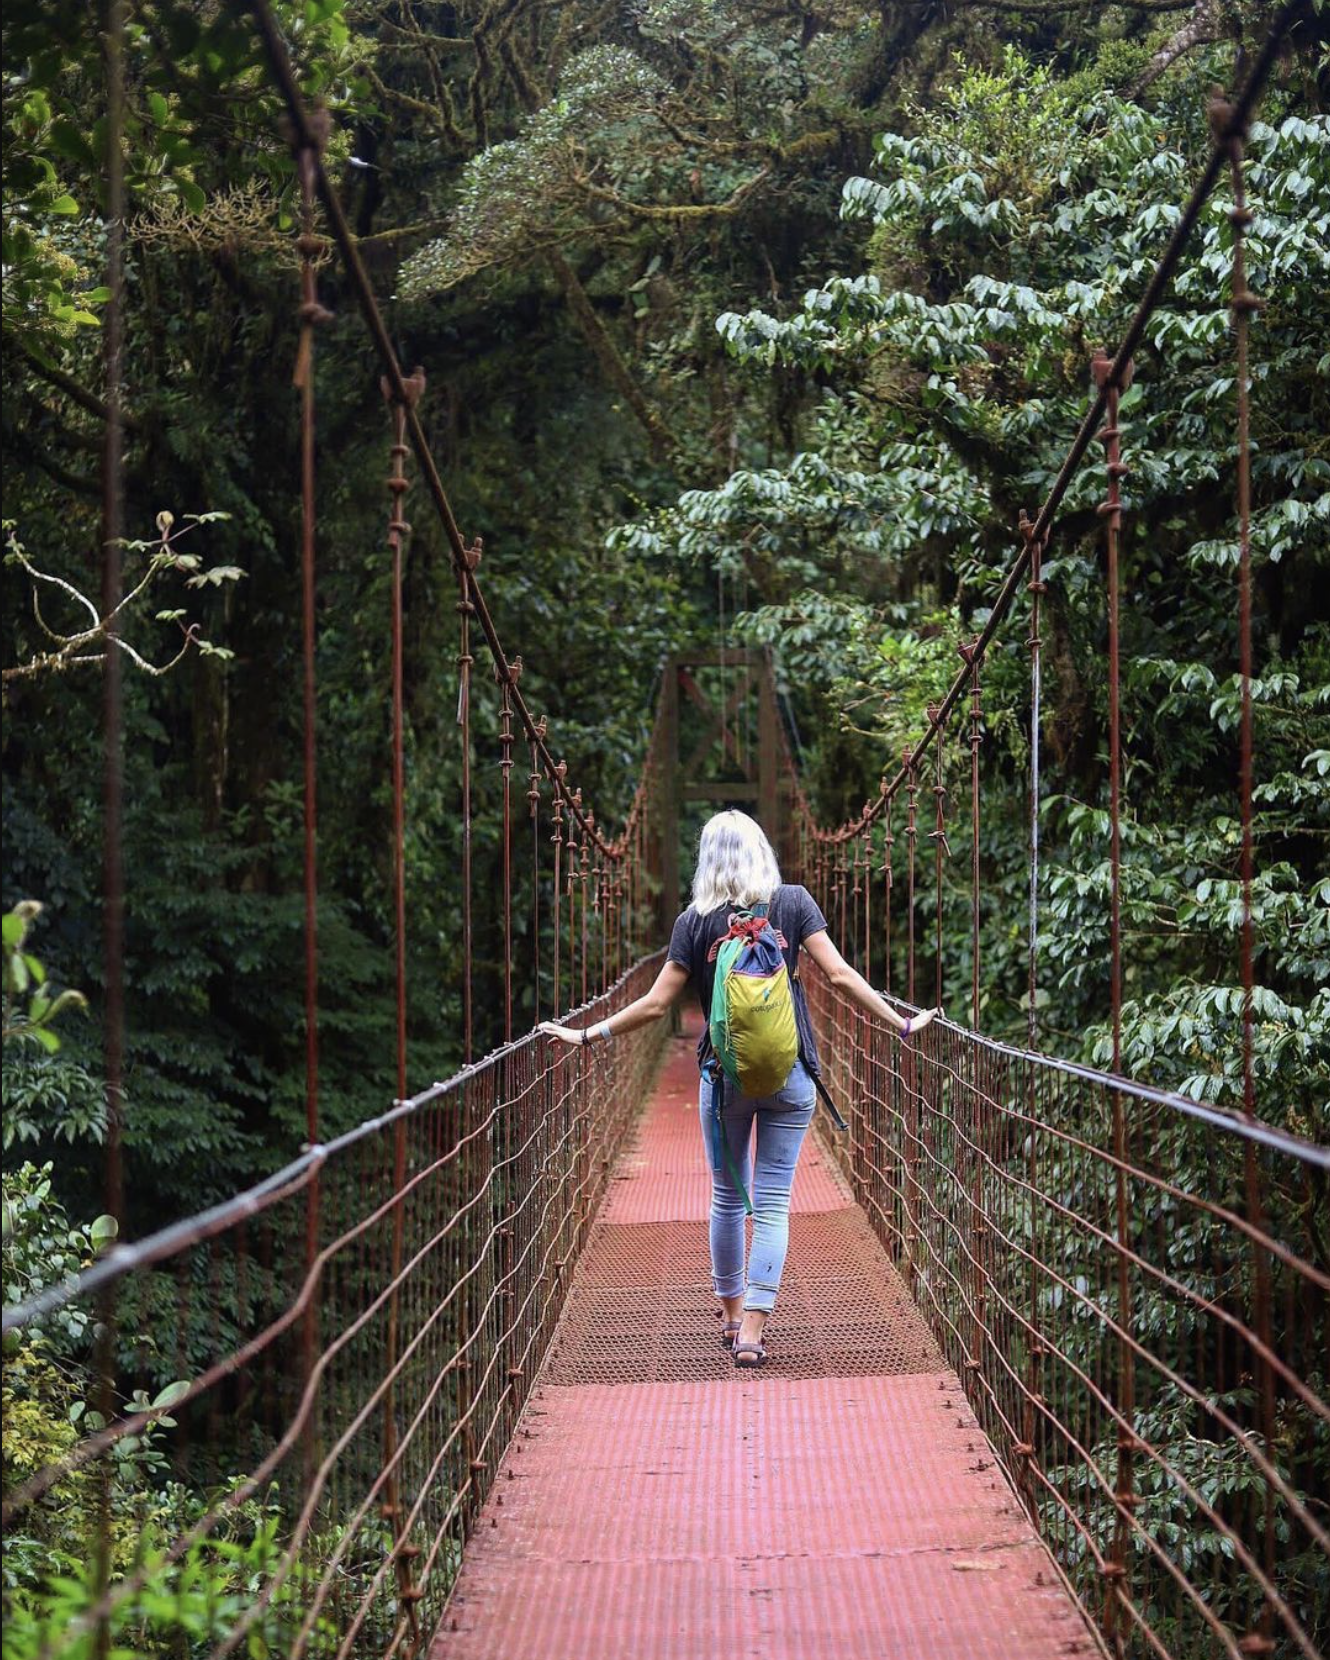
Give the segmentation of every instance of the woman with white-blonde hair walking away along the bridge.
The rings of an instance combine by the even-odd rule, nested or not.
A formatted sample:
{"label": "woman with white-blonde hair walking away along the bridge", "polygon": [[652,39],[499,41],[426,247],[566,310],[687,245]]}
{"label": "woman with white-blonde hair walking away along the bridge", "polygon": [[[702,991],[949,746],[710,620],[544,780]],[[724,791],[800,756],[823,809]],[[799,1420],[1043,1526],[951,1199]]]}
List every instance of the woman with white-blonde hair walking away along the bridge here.
{"label": "woman with white-blonde hair walking away along the bridge", "polygon": [[[722,943],[736,940],[739,941],[736,950],[742,950],[744,943],[752,946],[754,954],[765,948],[769,961],[774,963],[772,945],[769,941],[755,945],[764,935],[774,938],[784,959],[794,1019],[789,1049],[774,1051],[784,1056],[777,1062],[784,1081],[775,1079],[779,1087],[749,1096],[729,1082],[726,1072],[732,1067],[727,1064],[722,1069],[722,1057],[717,1057],[712,1047],[712,1028],[717,1019],[714,1003],[717,956]],[[634,1031],[667,1014],[689,981],[697,988],[702,1016],[711,1018],[697,1042],[697,1064],[702,1071],[699,1091],[702,1145],[711,1167],[711,1275],[724,1310],[721,1341],[732,1350],[734,1365],[739,1368],[762,1366],[767,1360],[762,1331],[780,1286],[789,1248],[794,1170],[820,1087],[809,1001],[797,973],[800,948],[837,991],[853,998],[875,1019],[902,1036],[922,1031],[938,1013],[925,1009],[910,1019],[897,1014],[832,945],[827,918],[809,890],[780,881],[775,853],[760,825],[747,813],[716,813],[704,825],[697,845],[692,903],[674,923],[669,958],[653,988],[596,1026],[558,1026],[553,1021],[540,1026],[550,1038],[570,1044],[609,1042],[616,1034]],[[719,964],[722,973],[732,959],[734,953],[727,953],[726,963]],[[754,986],[762,981],[759,1001],[770,998],[772,988],[775,1001],[780,1001],[779,968],[770,976],[755,966],[741,966],[739,974]],[[790,1054],[794,1062],[787,1064]],[[726,1057],[727,1062],[731,1059]],[[751,1150],[754,1124],[755,1159]],[[749,1189],[752,1248],[746,1273],[744,1212],[749,1208]]]}

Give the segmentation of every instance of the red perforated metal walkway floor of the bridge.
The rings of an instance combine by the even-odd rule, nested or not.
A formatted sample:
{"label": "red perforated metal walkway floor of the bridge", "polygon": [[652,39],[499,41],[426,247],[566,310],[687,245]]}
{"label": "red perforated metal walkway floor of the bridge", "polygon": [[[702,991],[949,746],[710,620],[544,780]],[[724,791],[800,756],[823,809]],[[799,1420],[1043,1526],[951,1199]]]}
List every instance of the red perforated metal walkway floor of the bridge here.
{"label": "red perforated metal walkway floor of the bridge", "polygon": [[719,1348],[671,1042],[432,1660],[1099,1653],[960,1383],[809,1140],[770,1363]]}

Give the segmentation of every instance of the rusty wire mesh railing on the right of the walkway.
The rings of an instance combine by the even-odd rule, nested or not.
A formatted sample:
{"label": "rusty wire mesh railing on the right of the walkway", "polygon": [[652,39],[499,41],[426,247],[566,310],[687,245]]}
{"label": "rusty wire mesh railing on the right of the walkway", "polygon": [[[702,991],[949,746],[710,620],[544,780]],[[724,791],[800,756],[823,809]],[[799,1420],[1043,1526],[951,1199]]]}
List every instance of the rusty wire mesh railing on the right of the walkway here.
{"label": "rusty wire mesh railing on the right of the walkway", "polygon": [[807,984],[855,1195],[1112,1652],[1315,1660],[1330,1150]]}

